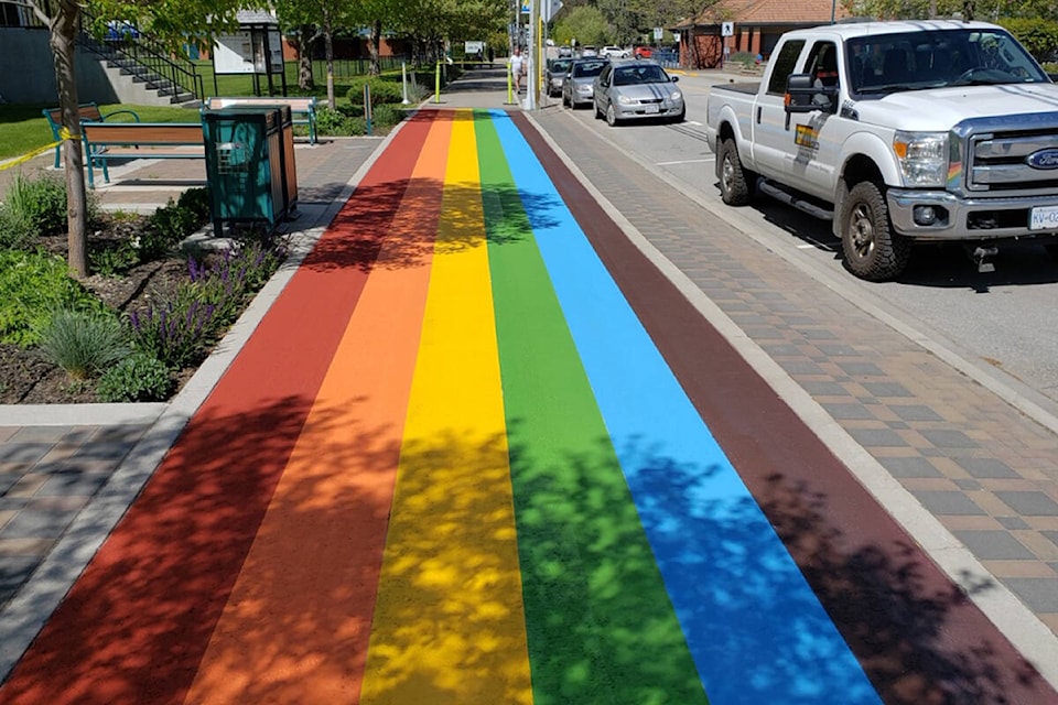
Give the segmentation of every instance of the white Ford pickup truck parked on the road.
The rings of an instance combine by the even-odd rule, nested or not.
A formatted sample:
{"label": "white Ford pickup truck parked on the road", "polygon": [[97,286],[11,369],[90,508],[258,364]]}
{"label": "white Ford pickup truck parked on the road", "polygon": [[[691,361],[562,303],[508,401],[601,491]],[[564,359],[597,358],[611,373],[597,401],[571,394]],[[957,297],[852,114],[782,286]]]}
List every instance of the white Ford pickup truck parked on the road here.
{"label": "white Ford pickup truck parked on the road", "polygon": [[1004,29],[958,20],[788,32],[759,84],[713,86],[724,203],[756,191],[833,221],[845,267],[883,281],[915,241],[1058,257],[1058,86]]}

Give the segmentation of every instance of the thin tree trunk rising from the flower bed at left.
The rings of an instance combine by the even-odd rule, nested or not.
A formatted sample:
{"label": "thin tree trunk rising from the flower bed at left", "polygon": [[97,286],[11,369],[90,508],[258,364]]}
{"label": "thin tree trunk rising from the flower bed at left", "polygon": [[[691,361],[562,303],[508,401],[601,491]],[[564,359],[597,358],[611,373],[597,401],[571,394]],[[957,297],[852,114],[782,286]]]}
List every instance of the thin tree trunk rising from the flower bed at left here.
{"label": "thin tree trunk rising from the flower bed at left", "polygon": [[69,254],[67,263],[78,276],[88,275],[88,195],[85,191],[84,152],[80,119],[77,115],[77,82],[74,77],[74,39],[80,19],[80,6],[60,0],[52,18],[48,44],[55,62],[58,105],[63,109],[63,127],[68,131],[63,142],[63,169],[66,172],[66,229]]}

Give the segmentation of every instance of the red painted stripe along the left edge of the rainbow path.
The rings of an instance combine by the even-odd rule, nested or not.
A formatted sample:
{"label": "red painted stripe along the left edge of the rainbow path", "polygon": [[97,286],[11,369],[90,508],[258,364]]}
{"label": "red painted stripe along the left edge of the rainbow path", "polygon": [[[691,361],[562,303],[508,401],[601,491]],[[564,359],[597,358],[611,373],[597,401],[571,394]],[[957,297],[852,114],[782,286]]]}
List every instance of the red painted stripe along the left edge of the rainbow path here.
{"label": "red painted stripe along the left edge of the rainbow path", "polygon": [[0,690],[0,703],[179,703],[430,128],[404,126]]}

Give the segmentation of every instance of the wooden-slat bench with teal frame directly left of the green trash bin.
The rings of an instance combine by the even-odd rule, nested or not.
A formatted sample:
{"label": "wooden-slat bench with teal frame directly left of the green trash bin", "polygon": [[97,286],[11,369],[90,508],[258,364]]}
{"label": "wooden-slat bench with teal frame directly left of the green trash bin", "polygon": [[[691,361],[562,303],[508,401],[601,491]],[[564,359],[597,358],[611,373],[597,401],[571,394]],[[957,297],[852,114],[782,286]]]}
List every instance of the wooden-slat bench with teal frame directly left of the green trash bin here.
{"label": "wooden-slat bench with teal frame directly left of the green trash bin", "polygon": [[[95,188],[93,170],[102,169],[110,182],[107,162],[117,159],[205,159],[201,122],[85,122],[80,126],[88,164],[88,187]],[[175,150],[195,147],[194,150]],[[144,148],[144,149],[141,149]]]}

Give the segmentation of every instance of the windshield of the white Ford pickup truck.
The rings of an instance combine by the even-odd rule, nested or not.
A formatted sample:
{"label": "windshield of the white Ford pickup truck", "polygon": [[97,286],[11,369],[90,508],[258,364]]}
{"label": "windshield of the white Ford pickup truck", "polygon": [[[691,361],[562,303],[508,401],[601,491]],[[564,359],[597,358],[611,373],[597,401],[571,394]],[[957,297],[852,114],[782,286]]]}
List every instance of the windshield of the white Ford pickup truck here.
{"label": "windshield of the white Ford pickup truck", "polygon": [[1049,83],[1039,65],[1002,30],[937,30],[876,34],[845,44],[852,93],[944,86]]}

